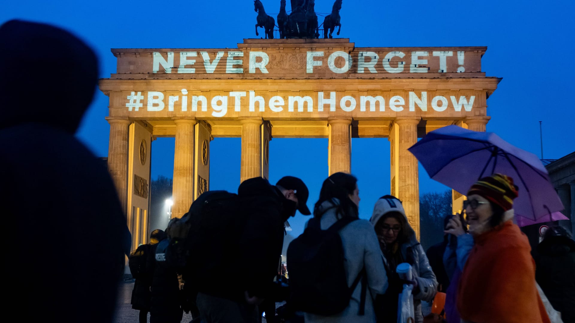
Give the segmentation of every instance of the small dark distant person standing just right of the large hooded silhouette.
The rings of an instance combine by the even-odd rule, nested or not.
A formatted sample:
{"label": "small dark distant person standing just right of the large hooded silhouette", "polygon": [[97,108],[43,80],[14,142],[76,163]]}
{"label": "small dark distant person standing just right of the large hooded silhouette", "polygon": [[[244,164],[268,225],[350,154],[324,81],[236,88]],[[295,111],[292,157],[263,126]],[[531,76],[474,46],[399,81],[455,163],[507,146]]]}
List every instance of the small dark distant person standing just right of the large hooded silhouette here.
{"label": "small dark distant person standing just right of the large hooded silhouette", "polygon": [[157,244],[166,239],[163,230],[155,229],[150,233],[150,243],[140,245],[135,251],[130,253],[130,272],[136,279],[132,290],[132,309],[140,310],[140,323],[148,322],[148,312],[150,312],[150,299],[152,298],[152,278],[156,265]]}

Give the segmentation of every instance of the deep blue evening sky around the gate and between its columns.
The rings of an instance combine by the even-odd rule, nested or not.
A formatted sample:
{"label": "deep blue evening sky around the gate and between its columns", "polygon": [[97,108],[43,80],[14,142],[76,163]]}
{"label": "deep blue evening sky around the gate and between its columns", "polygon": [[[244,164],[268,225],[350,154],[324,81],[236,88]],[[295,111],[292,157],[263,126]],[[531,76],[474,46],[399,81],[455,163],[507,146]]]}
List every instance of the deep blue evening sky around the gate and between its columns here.
{"label": "deep blue evening sky around the gate and between its columns", "polygon": [[[263,3],[267,13],[278,13],[279,0]],[[316,0],[316,11],[327,13],[332,4]],[[289,1],[287,6],[289,10]],[[482,70],[503,78],[488,100],[488,131],[539,156],[543,121],[544,157],[557,159],[575,150],[574,11],[572,1],[553,0],[344,0],[340,36],[358,47],[487,46]],[[243,39],[255,38],[256,13],[252,0],[5,1],[0,23],[12,18],[71,30],[98,53],[106,78],[116,72],[110,48],[235,48]],[[57,50],[39,48],[37,55]],[[38,72],[57,72],[43,68],[48,67],[39,66]],[[107,106],[108,97],[98,91],[78,132],[98,156],[108,155]],[[212,141],[210,189],[236,191],[240,143],[239,138]],[[327,139],[272,140],[270,182],[283,175],[304,179],[312,208],[328,175],[327,145]],[[152,178],[171,177],[174,139],[154,141],[152,152]],[[369,218],[377,198],[389,193],[389,141],[353,139],[351,167],[359,179],[361,217]],[[447,189],[421,168],[419,176],[420,193]],[[290,220],[294,234],[302,232],[305,220],[300,214]]]}

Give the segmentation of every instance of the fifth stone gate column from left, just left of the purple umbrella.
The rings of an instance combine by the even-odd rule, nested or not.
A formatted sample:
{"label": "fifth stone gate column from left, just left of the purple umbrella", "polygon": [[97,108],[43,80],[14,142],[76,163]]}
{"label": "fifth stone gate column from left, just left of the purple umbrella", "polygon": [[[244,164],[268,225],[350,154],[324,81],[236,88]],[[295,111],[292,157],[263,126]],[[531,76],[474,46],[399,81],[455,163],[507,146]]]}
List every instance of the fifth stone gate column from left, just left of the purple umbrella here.
{"label": "fifth stone gate column from left, just left of the purple umbrella", "polygon": [[397,187],[397,198],[401,200],[405,215],[417,235],[419,228],[419,172],[417,159],[407,149],[417,143],[417,124],[420,117],[400,117],[393,123],[390,132],[392,141],[392,188]]}

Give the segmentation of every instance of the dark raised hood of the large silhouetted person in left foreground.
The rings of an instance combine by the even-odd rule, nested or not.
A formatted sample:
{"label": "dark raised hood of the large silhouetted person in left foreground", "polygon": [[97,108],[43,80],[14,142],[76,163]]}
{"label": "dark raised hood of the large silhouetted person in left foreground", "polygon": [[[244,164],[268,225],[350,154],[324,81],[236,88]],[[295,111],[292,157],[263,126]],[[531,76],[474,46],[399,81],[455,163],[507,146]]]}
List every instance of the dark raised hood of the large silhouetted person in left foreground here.
{"label": "dark raised hood of the large silhouetted person in left foreground", "polygon": [[98,84],[98,59],[66,30],[11,20],[0,26],[0,129],[36,122],[76,132]]}

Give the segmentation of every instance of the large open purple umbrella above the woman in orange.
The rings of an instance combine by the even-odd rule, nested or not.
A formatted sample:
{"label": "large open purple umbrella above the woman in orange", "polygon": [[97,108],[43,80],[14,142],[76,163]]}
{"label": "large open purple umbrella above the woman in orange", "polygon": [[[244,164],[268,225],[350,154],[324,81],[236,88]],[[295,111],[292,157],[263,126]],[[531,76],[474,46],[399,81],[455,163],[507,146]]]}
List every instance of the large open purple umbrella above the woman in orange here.
{"label": "large open purple umbrella above the woman in orange", "polygon": [[446,126],[428,133],[409,151],[432,179],[464,194],[482,177],[511,176],[519,187],[513,209],[529,220],[564,209],[539,158],[492,132]]}

